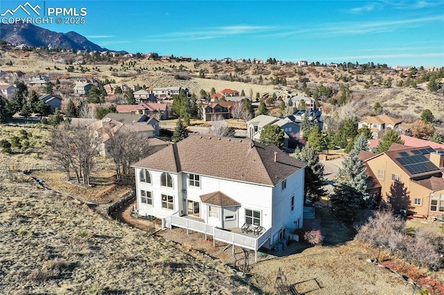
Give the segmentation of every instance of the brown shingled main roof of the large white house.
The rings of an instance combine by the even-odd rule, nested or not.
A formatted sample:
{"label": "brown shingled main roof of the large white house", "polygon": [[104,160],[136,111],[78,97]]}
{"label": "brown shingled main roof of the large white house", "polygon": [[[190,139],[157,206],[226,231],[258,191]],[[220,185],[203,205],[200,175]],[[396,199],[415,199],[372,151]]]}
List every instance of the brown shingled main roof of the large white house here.
{"label": "brown shingled main roof of the large white house", "polygon": [[[277,161],[275,159],[275,152]],[[135,163],[134,167],[275,186],[306,164],[275,145],[248,139],[189,136]]]}

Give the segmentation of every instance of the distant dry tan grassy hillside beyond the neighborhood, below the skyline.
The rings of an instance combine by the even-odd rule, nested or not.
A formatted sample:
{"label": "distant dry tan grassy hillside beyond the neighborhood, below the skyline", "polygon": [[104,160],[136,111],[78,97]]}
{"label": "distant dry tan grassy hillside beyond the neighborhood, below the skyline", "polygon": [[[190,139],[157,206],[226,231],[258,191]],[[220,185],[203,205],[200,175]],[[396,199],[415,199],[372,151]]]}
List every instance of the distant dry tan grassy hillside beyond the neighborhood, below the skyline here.
{"label": "distant dry tan grassy hillside beyond the neighborhood, below the skyline", "polygon": [[[418,84],[417,89],[410,87],[397,87],[396,83],[401,80],[400,73],[391,69],[373,69],[366,74],[356,75],[355,70],[343,71],[342,69],[326,68],[326,67],[305,67],[298,68],[296,66],[278,66],[271,64],[225,64],[215,62],[174,62],[174,61],[154,61],[146,58],[136,60],[135,58],[122,58],[114,64],[85,64],[84,68],[88,68],[90,71],[87,73],[81,73],[75,66],[74,73],[67,73],[64,64],[55,64],[53,60],[58,58],[65,58],[60,54],[57,56],[53,53],[51,56],[40,56],[33,52],[22,51],[8,51],[3,52],[0,62],[3,65],[12,60],[13,66],[3,66],[3,71],[24,71],[26,73],[50,75],[53,78],[58,77],[60,79],[77,78],[77,77],[94,77],[104,80],[105,78],[114,79],[117,82],[124,82],[127,84],[139,84],[145,85],[148,88],[153,87],[171,87],[180,86],[187,87],[191,92],[196,93],[199,96],[200,89],[204,89],[209,92],[212,87],[216,91],[221,89],[231,88],[238,91],[244,90],[247,96],[253,93],[259,92],[262,96],[263,93],[275,91],[277,89],[291,89],[293,93],[302,94],[302,91],[296,90],[296,85],[301,86],[298,82],[300,78],[308,78],[308,87],[314,90],[315,87],[323,84],[324,86],[333,87],[335,91],[338,91],[339,85],[343,84],[341,80],[336,82],[334,76],[340,75],[351,77],[351,81],[348,82],[350,90],[352,91],[352,98],[356,100],[364,101],[367,107],[357,109],[358,115],[364,116],[371,111],[375,102],[381,102],[384,107],[384,111],[396,115],[398,117],[413,115],[416,118],[419,117],[420,111],[423,109],[432,109],[434,114],[443,114],[444,105],[442,103],[442,95],[436,95],[427,91],[426,83]],[[72,55],[74,60],[79,57]],[[129,69],[121,68],[121,61],[130,62],[135,60],[137,62],[135,67]],[[183,66],[182,71],[178,71],[180,66]],[[54,66],[60,68],[54,69]],[[110,71],[110,67],[117,69],[117,72]],[[96,68],[92,70],[92,68]],[[50,70],[43,70],[50,68]],[[143,68],[142,73],[137,74],[137,69]],[[99,70],[97,70],[99,69]],[[207,78],[198,78],[200,70],[205,71]],[[239,71],[240,70],[240,71]],[[298,75],[295,71],[302,71],[303,75]],[[404,71],[404,75],[408,75],[409,71]],[[178,73],[186,73],[189,76],[189,80],[176,80],[174,76]],[[244,80],[250,80],[251,82],[237,82],[230,80],[221,80],[223,77],[237,75]],[[420,72],[417,77],[420,76]],[[120,76],[119,76],[120,75]],[[271,80],[277,75],[286,77],[288,87],[282,87],[273,85]],[[126,77],[124,77],[126,76]],[[262,76],[262,82],[259,82],[259,76]],[[356,81],[358,76],[359,82]],[[393,86],[389,89],[377,86],[380,79],[386,80],[388,77],[393,79]],[[373,79],[375,86],[370,89],[364,89],[366,81]],[[406,78],[404,78],[406,80]],[[62,84],[66,80],[61,80]],[[70,91],[70,87],[64,91]],[[339,94],[336,94],[339,95]],[[111,101],[113,98],[108,97]]]}

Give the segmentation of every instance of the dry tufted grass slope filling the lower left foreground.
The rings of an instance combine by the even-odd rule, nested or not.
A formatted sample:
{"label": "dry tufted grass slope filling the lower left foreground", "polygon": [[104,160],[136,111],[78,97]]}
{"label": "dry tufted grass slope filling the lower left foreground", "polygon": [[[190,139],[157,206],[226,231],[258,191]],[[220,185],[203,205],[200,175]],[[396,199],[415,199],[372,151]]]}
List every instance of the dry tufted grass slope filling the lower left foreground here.
{"label": "dry tufted grass slope filling the lower left foreground", "polygon": [[1,293],[252,293],[220,261],[190,256],[28,181],[0,188]]}

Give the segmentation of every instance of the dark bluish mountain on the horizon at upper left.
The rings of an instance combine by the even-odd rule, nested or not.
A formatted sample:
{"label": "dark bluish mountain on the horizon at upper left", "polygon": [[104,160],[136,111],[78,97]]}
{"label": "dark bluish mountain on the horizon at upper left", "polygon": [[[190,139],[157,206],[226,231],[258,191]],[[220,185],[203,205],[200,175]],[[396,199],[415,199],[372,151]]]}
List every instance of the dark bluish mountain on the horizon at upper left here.
{"label": "dark bluish mountain on the horizon at upper left", "polygon": [[0,24],[0,39],[12,44],[49,48],[71,48],[74,50],[105,51],[76,32],[56,33],[33,24],[17,22]]}

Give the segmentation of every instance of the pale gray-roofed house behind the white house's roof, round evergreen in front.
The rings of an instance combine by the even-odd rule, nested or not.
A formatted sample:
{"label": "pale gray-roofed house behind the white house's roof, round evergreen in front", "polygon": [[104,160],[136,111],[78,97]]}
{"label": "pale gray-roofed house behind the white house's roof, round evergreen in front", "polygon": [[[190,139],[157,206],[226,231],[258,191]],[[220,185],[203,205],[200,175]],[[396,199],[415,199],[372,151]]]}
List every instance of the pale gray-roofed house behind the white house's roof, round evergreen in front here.
{"label": "pale gray-roofed house behind the white house's roof, round evergreen in front", "polygon": [[289,141],[294,138],[299,138],[300,125],[289,120],[289,118],[276,118],[273,116],[259,115],[248,122],[247,137],[253,141],[260,141],[261,132],[266,125],[278,125],[284,129],[284,147],[289,147]]}

